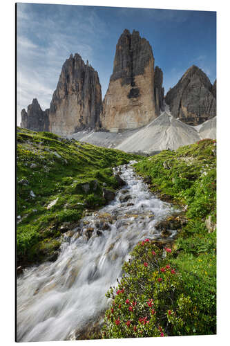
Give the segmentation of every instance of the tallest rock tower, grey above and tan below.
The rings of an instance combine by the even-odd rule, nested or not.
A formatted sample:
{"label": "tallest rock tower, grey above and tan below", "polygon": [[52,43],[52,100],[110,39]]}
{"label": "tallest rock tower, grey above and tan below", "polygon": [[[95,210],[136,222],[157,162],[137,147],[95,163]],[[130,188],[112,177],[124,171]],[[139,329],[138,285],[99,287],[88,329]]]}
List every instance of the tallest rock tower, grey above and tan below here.
{"label": "tallest rock tower, grey above and tan below", "polygon": [[117,42],[102,127],[110,131],[135,129],[156,116],[152,48],[138,31],[131,34],[126,29]]}

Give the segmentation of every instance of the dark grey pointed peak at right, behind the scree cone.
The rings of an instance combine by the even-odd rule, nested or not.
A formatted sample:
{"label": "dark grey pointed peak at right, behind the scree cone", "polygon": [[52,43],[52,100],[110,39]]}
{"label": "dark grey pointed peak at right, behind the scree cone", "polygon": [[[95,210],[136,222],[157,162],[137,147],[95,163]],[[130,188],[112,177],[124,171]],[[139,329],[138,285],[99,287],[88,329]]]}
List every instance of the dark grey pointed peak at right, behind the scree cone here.
{"label": "dark grey pointed peak at right, behind the scree cone", "polygon": [[216,115],[213,86],[207,75],[191,66],[165,97],[175,118],[189,125],[199,125]]}

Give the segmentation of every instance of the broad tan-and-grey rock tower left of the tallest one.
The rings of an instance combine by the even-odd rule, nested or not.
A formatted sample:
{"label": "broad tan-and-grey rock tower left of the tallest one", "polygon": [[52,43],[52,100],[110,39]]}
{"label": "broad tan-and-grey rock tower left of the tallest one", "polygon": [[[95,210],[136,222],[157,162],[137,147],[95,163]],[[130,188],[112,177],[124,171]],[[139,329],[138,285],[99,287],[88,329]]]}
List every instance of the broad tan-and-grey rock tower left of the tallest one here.
{"label": "broad tan-and-grey rock tower left of the tallest one", "polygon": [[99,126],[102,90],[97,71],[79,54],[71,54],[61,69],[50,103],[50,131],[55,134]]}

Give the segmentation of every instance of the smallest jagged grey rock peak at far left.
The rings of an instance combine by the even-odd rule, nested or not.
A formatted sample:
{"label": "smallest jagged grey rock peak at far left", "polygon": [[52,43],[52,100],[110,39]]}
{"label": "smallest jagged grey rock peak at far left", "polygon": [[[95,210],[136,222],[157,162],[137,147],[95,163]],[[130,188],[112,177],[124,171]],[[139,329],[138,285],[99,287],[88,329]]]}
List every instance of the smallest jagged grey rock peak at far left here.
{"label": "smallest jagged grey rock peak at far left", "polygon": [[37,98],[32,100],[32,104],[28,105],[28,109],[21,111],[21,127],[32,131],[48,131],[49,129],[49,109],[43,111]]}

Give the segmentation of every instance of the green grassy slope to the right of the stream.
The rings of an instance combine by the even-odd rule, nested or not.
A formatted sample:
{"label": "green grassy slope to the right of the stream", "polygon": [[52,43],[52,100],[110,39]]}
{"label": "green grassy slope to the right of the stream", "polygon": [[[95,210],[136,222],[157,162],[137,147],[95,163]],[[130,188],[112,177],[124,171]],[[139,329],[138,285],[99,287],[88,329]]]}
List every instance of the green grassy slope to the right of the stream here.
{"label": "green grassy slope to the right of the stream", "polygon": [[[135,165],[158,196],[184,208],[188,222],[173,245],[171,264],[199,310],[194,334],[215,334],[216,143],[200,140],[175,152],[163,151]],[[208,230],[209,228],[209,230]]]}

